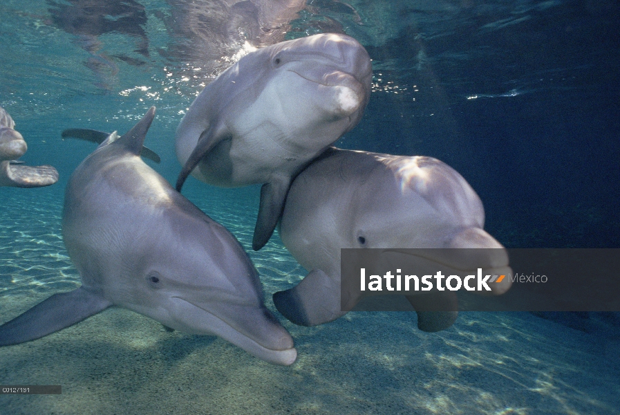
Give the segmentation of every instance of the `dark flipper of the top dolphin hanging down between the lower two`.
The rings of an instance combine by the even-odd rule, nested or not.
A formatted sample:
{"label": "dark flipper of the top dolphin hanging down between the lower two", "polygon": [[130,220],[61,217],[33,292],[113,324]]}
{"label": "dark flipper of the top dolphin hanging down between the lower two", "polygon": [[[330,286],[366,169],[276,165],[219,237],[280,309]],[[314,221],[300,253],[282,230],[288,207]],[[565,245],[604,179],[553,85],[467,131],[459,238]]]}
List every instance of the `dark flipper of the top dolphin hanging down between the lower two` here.
{"label": "dark flipper of the top dolphin hanging down between the lower two", "polygon": [[274,229],[284,209],[284,201],[286,200],[289,187],[289,178],[271,181],[261,187],[259,216],[256,218],[256,225],[254,226],[252,249],[260,250],[263,248],[274,233]]}

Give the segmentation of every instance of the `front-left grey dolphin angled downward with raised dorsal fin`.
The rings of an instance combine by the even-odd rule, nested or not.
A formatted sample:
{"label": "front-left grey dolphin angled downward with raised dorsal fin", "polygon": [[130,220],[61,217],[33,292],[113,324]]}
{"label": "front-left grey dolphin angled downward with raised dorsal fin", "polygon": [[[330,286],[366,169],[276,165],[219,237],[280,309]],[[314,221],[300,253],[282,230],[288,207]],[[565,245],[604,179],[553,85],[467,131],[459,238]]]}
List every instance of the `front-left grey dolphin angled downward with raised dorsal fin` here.
{"label": "front-left grey dolphin angled downward with raised dorsal fin", "polygon": [[265,307],[241,245],[140,158],[154,116],[152,107],[122,137],[112,133],[75,169],[62,234],[82,286],[0,326],[0,346],[120,306],[171,329],[218,335],[267,362],[292,364],[293,340]]}

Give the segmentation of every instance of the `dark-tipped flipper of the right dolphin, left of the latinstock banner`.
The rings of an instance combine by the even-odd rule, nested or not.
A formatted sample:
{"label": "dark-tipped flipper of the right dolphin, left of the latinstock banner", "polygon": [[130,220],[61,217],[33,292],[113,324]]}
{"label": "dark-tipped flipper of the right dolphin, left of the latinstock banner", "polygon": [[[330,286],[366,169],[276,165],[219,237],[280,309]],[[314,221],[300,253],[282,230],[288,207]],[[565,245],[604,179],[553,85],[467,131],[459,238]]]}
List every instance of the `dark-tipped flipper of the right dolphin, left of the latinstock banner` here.
{"label": "dark-tipped flipper of the right dolphin, left of the latinstock banner", "polygon": [[346,314],[340,311],[340,284],[321,270],[312,270],[296,287],[273,295],[276,308],[299,326],[318,326]]}

